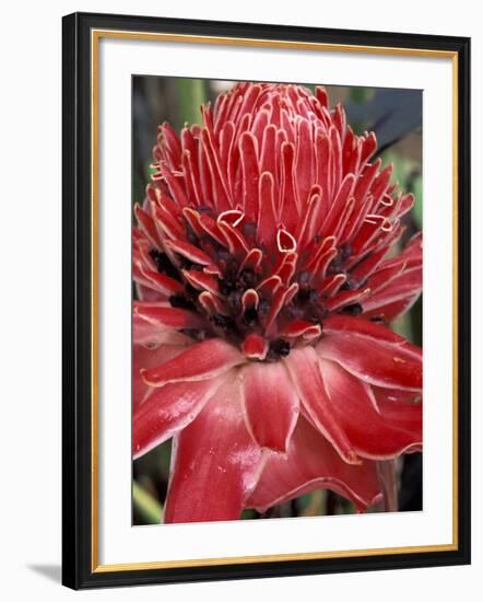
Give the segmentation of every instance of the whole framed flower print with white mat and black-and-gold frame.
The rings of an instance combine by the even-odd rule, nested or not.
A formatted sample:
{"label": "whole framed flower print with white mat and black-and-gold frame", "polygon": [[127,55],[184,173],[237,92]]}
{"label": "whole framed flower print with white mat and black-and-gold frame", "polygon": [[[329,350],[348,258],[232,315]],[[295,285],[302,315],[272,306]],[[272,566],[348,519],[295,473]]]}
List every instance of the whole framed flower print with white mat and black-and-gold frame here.
{"label": "whole framed flower print with white mat and black-and-gold frame", "polygon": [[63,19],[66,586],[470,562],[469,66]]}

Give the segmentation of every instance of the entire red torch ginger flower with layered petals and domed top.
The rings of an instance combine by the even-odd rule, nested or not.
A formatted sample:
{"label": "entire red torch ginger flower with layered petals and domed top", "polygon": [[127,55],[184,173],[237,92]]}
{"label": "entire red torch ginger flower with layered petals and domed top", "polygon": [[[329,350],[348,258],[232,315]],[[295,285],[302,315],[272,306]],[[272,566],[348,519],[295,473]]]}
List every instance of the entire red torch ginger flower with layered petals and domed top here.
{"label": "entire red torch ginger flower with layered petals and domed top", "polygon": [[166,522],[237,519],[317,488],[365,510],[377,461],[421,449],[421,350],[384,325],[421,292],[397,256],[411,195],[343,108],[240,83],[160,127],[136,207],[133,453],[175,437]]}

